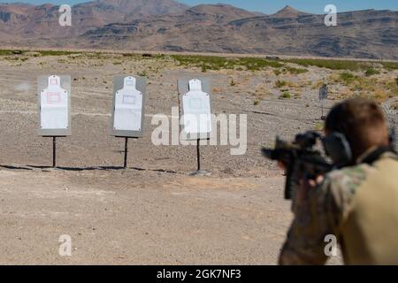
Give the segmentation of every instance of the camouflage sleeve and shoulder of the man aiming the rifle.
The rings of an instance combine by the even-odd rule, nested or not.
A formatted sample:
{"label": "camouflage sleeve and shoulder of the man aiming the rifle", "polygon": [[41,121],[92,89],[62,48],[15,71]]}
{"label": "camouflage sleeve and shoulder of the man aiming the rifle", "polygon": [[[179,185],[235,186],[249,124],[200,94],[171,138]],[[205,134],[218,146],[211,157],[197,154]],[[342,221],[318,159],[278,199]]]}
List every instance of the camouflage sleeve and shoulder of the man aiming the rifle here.
{"label": "camouflage sleeve and shoulder of the man aiming the rifle", "polygon": [[356,188],[370,170],[363,164],[334,171],[310,190],[306,201],[294,208],[279,264],[325,264],[325,236],[332,234],[340,241],[341,225],[348,218]]}

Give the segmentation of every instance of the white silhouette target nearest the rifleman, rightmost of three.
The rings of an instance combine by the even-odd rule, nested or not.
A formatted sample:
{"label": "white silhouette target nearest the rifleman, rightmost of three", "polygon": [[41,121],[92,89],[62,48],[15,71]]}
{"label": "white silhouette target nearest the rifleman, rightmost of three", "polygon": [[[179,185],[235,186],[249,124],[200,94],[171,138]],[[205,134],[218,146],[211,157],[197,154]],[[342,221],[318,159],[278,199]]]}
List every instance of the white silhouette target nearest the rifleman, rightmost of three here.
{"label": "white silhouette target nearest the rifleman, rightmost of three", "polygon": [[189,80],[189,91],[182,96],[184,132],[187,134],[210,134],[210,96],[202,90],[201,80]]}

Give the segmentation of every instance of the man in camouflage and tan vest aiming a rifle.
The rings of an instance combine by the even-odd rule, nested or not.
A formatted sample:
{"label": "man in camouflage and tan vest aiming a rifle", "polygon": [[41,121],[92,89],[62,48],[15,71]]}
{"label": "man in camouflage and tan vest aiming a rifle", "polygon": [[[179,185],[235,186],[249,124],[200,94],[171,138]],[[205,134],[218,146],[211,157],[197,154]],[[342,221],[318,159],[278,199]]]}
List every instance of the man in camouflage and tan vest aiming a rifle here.
{"label": "man in camouflage and tan vest aiming a rifle", "polygon": [[325,120],[331,136],[348,162],[302,179],[279,264],[325,264],[330,235],[345,264],[398,264],[398,157],[383,112],[363,98],[339,103]]}

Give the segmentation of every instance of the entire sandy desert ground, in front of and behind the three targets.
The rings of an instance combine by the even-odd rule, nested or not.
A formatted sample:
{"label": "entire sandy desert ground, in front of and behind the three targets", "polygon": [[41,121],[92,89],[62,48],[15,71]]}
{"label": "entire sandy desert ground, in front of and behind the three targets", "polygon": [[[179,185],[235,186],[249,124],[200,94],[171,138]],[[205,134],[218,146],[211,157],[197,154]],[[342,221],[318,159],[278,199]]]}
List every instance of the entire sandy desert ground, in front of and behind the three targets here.
{"label": "entire sandy desert ground, in front of and behind the three targets", "polygon": [[[293,138],[322,125],[318,89],[308,82],[331,71],[284,78],[300,85],[296,99],[284,100],[272,71],[200,73],[115,56],[0,60],[0,264],[276,264],[292,215],[282,172],[259,150],[276,134]],[[124,143],[108,131],[112,77],[142,71],[146,134],[130,141],[123,170]],[[37,77],[54,73],[73,79],[73,135],[58,139],[57,170],[47,167],[50,139],[36,133]],[[231,146],[202,147],[209,177],[188,176],[195,146],[151,143],[153,115],[178,106],[177,78],[197,73],[212,80],[216,114],[248,115],[243,156],[232,156]],[[256,88],[269,92],[255,105]],[[72,237],[72,256],[58,254],[62,234]]]}

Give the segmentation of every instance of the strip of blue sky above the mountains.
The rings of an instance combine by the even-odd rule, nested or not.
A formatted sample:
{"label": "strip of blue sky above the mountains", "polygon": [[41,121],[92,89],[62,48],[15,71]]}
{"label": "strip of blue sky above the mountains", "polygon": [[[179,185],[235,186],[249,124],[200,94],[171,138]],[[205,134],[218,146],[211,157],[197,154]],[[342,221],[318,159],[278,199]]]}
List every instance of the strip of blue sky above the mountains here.
{"label": "strip of blue sky above the mountains", "polygon": [[[31,4],[77,4],[88,0],[0,0],[0,3],[25,2]],[[180,0],[181,3],[195,4],[233,4],[249,11],[263,11],[270,14],[286,5],[291,5],[297,10],[324,13],[326,4],[334,4],[338,11],[352,11],[364,9],[398,11],[398,0]]]}

